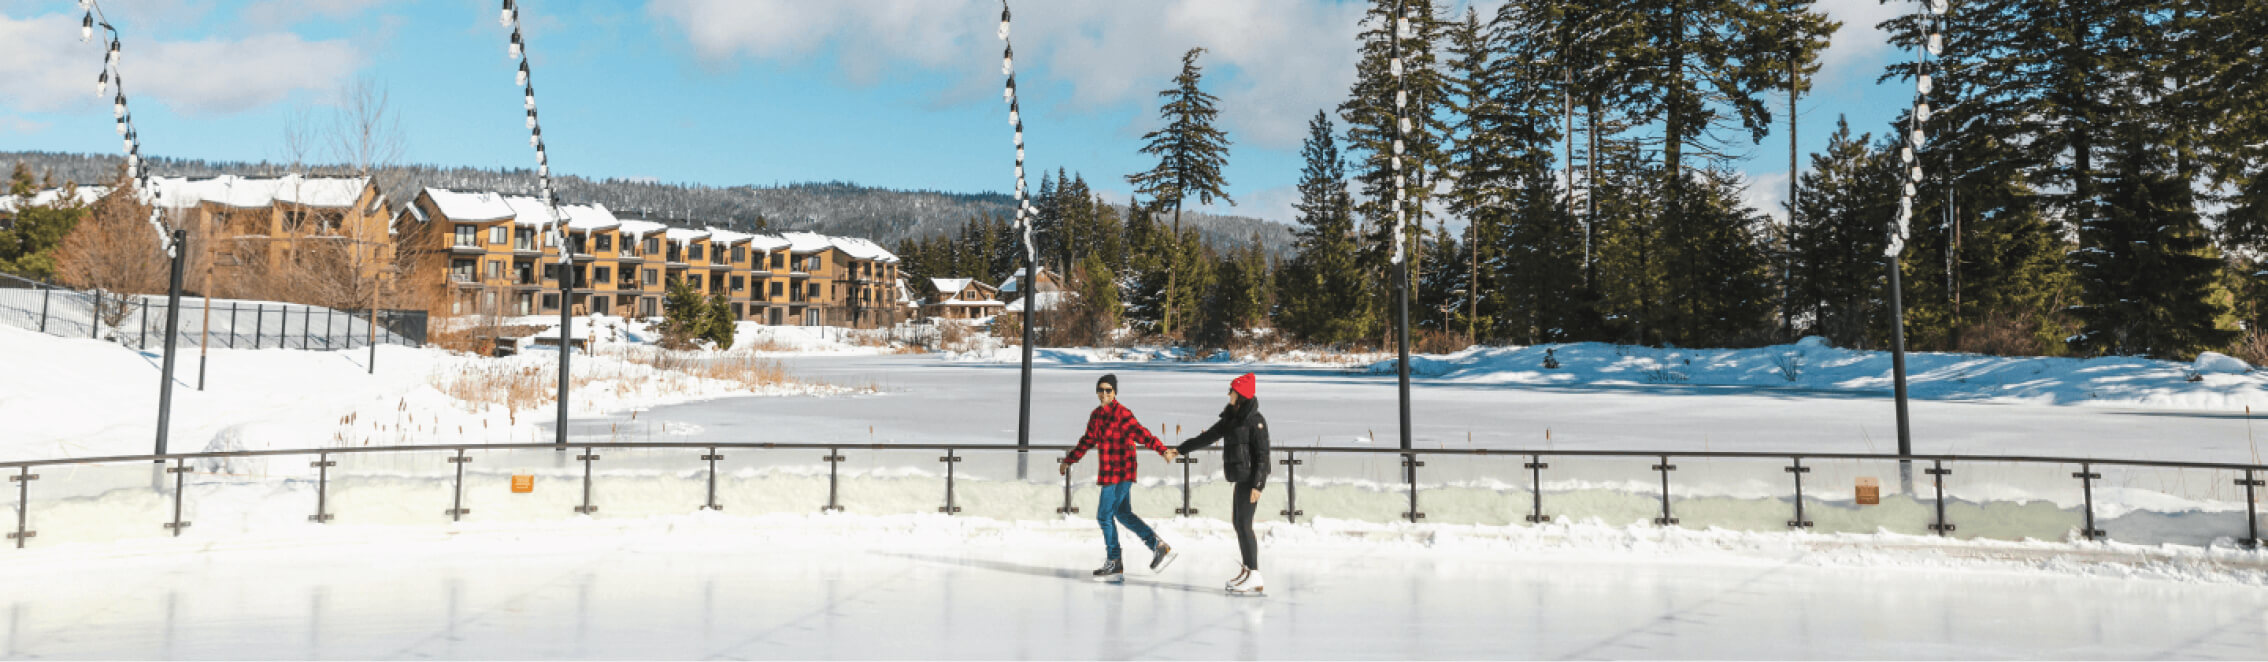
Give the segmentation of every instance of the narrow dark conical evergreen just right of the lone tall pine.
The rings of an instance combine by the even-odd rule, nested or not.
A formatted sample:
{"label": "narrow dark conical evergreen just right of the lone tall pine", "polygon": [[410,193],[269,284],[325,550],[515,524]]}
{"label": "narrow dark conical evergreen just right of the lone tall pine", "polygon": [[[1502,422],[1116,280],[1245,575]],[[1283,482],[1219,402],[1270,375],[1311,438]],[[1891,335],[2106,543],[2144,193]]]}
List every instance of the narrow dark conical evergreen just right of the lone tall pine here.
{"label": "narrow dark conical evergreen just right of the lone tall pine", "polygon": [[1345,345],[1374,336],[1377,288],[1356,261],[1354,206],[1347,166],[1338,156],[1331,118],[1315,111],[1300,156],[1297,243],[1277,281],[1277,326],[1311,342]]}

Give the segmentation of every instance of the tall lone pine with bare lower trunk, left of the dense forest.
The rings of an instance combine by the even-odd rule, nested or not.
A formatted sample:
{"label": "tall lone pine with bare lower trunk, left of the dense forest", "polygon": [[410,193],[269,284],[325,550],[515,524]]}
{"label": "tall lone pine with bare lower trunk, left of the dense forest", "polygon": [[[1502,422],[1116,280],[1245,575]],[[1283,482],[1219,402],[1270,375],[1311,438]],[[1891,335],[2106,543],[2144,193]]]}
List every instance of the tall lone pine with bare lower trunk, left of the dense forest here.
{"label": "tall lone pine with bare lower trunk, left of the dense forest", "polygon": [[[1134,190],[1148,195],[1161,209],[1173,206],[1175,236],[1182,234],[1182,202],[1191,195],[1200,204],[1213,204],[1216,197],[1236,204],[1227,193],[1229,181],[1220,177],[1220,170],[1229,163],[1229,134],[1213,127],[1220,111],[1213,109],[1216,97],[1198,86],[1204,77],[1198,54],[1204,54],[1204,48],[1191,48],[1182,54],[1182,75],[1173,79],[1170,88],[1157,93],[1166,100],[1159,107],[1159,118],[1166,120],[1166,127],[1145,134],[1141,150],[1159,159],[1157,168],[1127,175],[1127,184],[1134,184]],[[1177,265],[1166,272],[1166,302],[1159,322],[1159,333],[1166,336],[1173,336],[1175,308],[1186,302],[1177,297],[1177,292],[1186,290],[1177,286]]]}

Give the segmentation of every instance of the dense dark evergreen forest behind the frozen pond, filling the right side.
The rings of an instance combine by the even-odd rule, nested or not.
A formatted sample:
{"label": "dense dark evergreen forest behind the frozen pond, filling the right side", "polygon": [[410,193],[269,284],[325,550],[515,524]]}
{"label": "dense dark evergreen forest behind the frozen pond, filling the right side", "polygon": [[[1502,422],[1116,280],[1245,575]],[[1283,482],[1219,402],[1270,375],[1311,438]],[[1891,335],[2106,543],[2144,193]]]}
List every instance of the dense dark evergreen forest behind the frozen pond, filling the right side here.
{"label": "dense dark evergreen forest behind the frozen pond, filling the right side", "polygon": [[[1386,347],[1399,186],[1420,340],[1885,349],[1885,249],[1921,168],[1912,349],[2268,360],[2268,32],[2239,29],[2268,25],[2259,2],[1964,0],[1941,23],[1916,2],[1880,25],[1916,54],[1880,79],[1928,75],[1921,104],[1812,154],[1792,109],[1835,111],[1803,95],[1839,27],[1814,0],[1370,5],[1352,88],[1309,120],[1288,256],[1173,227],[1186,197],[1227,197],[1234,145],[1191,50],[1125,213],[1080,175],[1041,184],[1041,263],[1107,274],[1123,320],[1168,340]],[[1774,213],[1733,172],[1765,150],[1794,170]],[[1009,231],[973,218],[900,254],[998,281]]]}

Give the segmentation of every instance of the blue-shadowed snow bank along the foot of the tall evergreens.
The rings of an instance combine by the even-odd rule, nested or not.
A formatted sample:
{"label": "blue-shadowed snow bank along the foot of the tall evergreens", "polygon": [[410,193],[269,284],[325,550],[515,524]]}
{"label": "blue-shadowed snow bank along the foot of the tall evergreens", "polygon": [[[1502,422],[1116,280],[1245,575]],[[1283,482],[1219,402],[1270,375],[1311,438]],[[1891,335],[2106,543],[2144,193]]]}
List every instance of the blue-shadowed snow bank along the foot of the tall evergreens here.
{"label": "blue-shadowed snow bank along the foot of the tall evergreens", "polygon": [[[1545,360],[1558,367],[1545,367]],[[1914,399],[2105,404],[2139,408],[2268,408],[2268,374],[2220,354],[2195,365],[2150,358],[2041,358],[1914,351]],[[1370,365],[1393,374],[1395,363]],[[1445,383],[1517,385],[1746,385],[1819,392],[1889,392],[1889,351],[1835,349],[1819,338],[1755,349],[1653,349],[1601,342],[1474,347],[1413,356],[1411,374]],[[2195,376],[2195,381],[2191,381]]]}

